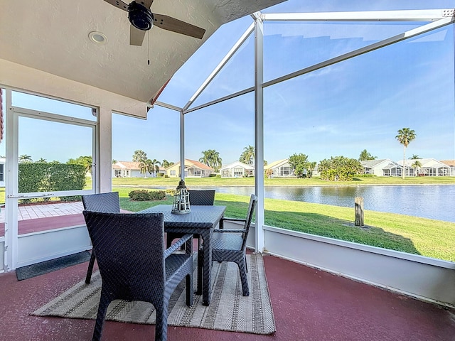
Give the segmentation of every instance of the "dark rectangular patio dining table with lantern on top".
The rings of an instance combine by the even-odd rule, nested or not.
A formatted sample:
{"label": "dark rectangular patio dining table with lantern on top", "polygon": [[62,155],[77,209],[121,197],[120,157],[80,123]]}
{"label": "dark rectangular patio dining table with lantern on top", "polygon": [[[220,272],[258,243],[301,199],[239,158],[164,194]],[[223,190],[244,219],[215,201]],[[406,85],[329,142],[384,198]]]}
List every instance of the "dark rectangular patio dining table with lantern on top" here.
{"label": "dark rectangular patio dining table with lantern on top", "polygon": [[[141,210],[140,213],[164,214],[164,232],[191,233],[201,237],[204,244],[203,274],[198,273],[198,289],[202,293],[203,305],[210,304],[213,229],[218,225],[226,210],[225,206],[191,206],[191,212],[179,215],[171,213],[172,205],[157,205]],[[199,271],[199,269],[198,269]],[[202,283],[200,281],[202,278]]]}

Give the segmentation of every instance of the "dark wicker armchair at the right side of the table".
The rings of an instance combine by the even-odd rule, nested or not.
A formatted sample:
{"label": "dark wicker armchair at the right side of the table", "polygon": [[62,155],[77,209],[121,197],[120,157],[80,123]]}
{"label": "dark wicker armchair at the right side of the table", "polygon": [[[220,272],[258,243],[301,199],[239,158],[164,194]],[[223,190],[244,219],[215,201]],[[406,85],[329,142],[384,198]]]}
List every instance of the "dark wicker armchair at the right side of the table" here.
{"label": "dark wicker armchair at the right side of the table", "polygon": [[[220,220],[220,229],[213,230],[212,244],[212,261],[234,261],[237,263],[240,271],[240,280],[242,281],[243,296],[249,296],[247,280],[247,237],[250,232],[251,221],[255,207],[257,204],[257,196],[252,194],[250,197],[250,205],[248,206],[247,216],[245,219],[222,217]],[[242,229],[225,229],[223,222],[243,222]],[[199,248],[198,252],[198,276],[202,276],[203,271],[203,253],[204,247]],[[198,277],[199,283],[202,283],[202,278]]]}

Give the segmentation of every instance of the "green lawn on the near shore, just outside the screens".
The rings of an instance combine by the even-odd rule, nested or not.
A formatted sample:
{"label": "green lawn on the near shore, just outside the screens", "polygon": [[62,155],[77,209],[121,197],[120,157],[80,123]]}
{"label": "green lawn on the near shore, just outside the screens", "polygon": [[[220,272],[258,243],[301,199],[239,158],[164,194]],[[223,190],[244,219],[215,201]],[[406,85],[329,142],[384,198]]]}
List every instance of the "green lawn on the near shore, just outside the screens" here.
{"label": "green lawn on the near shore, just outside the screens", "polygon": [[[114,188],[119,191],[124,210],[137,212],[172,203],[171,196],[156,202],[132,202],[128,193],[135,189]],[[215,205],[227,206],[227,217],[244,217],[249,199],[243,195],[216,193]],[[265,199],[264,208],[265,224],[269,226],[455,261],[453,222],[365,210],[365,227],[355,227],[354,210],[350,207]]]}

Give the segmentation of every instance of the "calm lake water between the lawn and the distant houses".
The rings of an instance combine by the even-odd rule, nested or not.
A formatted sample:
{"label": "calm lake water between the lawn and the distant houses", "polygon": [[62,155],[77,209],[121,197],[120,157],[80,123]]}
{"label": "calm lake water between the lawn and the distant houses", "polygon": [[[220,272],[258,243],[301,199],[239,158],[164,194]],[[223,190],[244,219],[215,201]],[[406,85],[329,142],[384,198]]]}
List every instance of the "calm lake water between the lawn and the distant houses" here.
{"label": "calm lake water between the lawn and the distant houses", "polygon": [[[220,187],[216,190],[237,195],[255,192],[254,187]],[[266,186],[265,197],[343,207],[354,207],[354,198],[363,197],[365,210],[455,222],[455,185]]]}

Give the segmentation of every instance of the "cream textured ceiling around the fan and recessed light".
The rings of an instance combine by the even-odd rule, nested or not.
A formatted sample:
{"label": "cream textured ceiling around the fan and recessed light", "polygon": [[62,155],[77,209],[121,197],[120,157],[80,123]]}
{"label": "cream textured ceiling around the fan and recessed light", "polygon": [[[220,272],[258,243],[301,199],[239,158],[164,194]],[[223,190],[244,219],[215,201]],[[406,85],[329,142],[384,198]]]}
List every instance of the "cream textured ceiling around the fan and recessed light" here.
{"label": "cream textured ceiling around the fan and recessed light", "polygon": [[[106,1],[2,0],[0,59],[148,102],[223,23],[282,1],[155,0],[153,12],[205,28],[205,35],[154,27],[142,46],[132,46],[127,12]],[[92,43],[91,31],[104,33],[107,44]]]}

